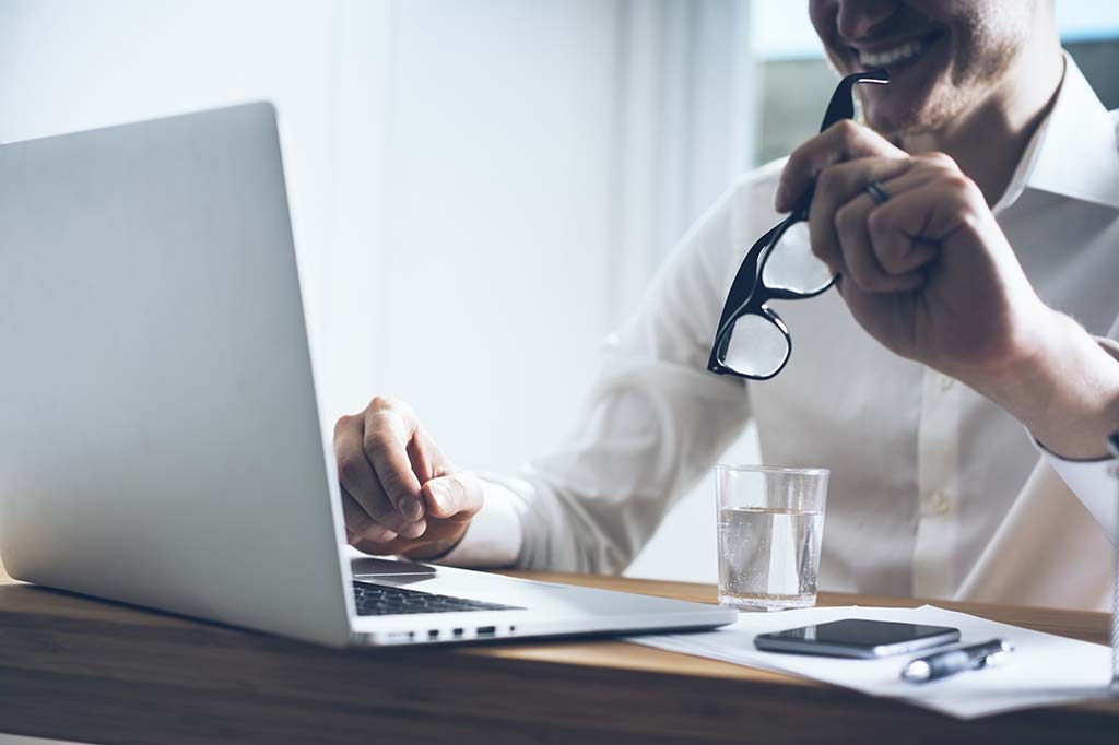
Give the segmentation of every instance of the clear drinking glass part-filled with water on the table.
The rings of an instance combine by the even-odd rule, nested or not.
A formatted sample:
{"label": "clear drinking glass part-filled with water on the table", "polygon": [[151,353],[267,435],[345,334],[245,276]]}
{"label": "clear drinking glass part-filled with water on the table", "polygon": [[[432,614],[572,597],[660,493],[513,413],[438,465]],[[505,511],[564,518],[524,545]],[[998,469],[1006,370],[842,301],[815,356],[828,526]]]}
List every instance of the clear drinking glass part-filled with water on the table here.
{"label": "clear drinking glass part-filled with water on the table", "polygon": [[828,475],[827,469],[715,466],[721,605],[816,605]]}

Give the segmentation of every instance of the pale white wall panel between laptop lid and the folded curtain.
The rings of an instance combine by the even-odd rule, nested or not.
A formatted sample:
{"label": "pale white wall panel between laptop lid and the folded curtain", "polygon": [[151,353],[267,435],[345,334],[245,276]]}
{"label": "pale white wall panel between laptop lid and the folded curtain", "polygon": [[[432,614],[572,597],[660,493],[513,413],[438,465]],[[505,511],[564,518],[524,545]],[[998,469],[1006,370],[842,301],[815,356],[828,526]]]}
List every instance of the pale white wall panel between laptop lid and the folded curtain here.
{"label": "pale white wall panel between laptop lid and the folded curtain", "polygon": [[600,0],[401,6],[376,384],[461,463],[553,444],[593,372],[617,20]]}

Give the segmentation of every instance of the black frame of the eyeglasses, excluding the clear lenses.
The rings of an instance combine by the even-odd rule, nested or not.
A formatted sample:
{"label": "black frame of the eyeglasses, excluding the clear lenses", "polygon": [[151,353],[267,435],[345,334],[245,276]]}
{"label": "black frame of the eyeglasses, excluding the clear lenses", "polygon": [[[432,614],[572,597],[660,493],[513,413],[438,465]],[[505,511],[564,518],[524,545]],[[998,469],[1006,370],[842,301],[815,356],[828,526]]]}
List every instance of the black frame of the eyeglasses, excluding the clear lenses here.
{"label": "black frame of the eyeglasses, excluding the clear lenses", "polygon": [[[855,117],[855,86],[857,84],[884,84],[888,82],[890,74],[884,69],[854,73],[844,77],[839,81],[839,85],[836,86],[835,93],[831,94],[831,101],[824,113],[824,122],[820,124],[820,132],[824,132],[840,120]],[[789,358],[792,356],[792,334],[789,333],[789,328],[781,320],[781,317],[769,308],[767,303],[770,300],[807,300],[808,298],[815,298],[827,292],[835,284],[836,277],[833,276],[819,290],[799,292],[784,287],[770,287],[762,280],[762,273],[765,271],[765,262],[769,261],[773,246],[781,239],[786,230],[794,224],[808,219],[808,207],[812,204],[814,191],[815,186],[810,186],[801,195],[793,210],[777,226],[758,238],[754,245],[750,247],[750,251],[746,252],[745,257],[742,260],[742,265],[734,275],[734,282],[731,284],[731,291],[726,295],[726,302],[723,304],[723,312],[718,319],[718,329],[715,333],[715,342],[707,359],[707,369],[709,371],[716,375],[731,375],[746,380],[769,380],[777,377],[784,369],[784,366],[789,362]],[[740,372],[734,368],[727,367],[725,364],[734,324],[744,315],[760,315],[770,321],[784,334],[784,359],[769,375]]]}

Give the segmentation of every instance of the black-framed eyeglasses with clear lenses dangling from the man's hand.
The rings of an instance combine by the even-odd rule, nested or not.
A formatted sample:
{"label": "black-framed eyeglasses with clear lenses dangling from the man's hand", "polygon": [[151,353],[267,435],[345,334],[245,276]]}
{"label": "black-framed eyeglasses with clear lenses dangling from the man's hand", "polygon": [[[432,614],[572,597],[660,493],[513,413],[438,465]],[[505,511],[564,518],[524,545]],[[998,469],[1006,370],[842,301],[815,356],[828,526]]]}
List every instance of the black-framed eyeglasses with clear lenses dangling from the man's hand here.
{"label": "black-framed eyeglasses with clear lenses dangling from the man's hand", "polygon": [[[831,95],[820,132],[855,116],[856,84],[888,82],[884,69],[843,78]],[[815,298],[835,284],[835,275],[812,254],[808,238],[812,191],[809,187],[789,216],[746,252],[718,319],[707,360],[712,372],[750,380],[774,377],[789,361],[792,337],[769,301]]]}

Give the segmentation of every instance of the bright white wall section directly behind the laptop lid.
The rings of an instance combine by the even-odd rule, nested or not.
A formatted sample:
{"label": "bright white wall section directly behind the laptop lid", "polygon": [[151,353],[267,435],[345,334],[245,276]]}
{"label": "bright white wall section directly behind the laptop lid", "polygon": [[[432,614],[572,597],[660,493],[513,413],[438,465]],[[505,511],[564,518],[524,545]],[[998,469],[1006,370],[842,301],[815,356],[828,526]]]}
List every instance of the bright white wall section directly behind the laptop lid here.
{"label": "bright white wall section directly behind the laptop lid", "polygon": [[[373,175],[383,136],[376,96],[386,79],[387,29],[388,6],[359,0],[6,0],[0,141],[275,102],[305,308],[330,411],[349,370],[364,366],[365,377],[372,374],[358,355],[335,366],[337,372],[323,364],[335,346],[338,298],[360,298],[363,285],[352,277],[367,279],[366,263],[375,257],[369,221],[379,208]],[[360,138],[344,126],[355,110],[364,114]],[[361,148],[361,138],[378,145]],[[372,314],[367,307],[361,312]]]}

